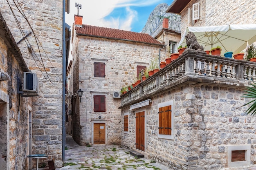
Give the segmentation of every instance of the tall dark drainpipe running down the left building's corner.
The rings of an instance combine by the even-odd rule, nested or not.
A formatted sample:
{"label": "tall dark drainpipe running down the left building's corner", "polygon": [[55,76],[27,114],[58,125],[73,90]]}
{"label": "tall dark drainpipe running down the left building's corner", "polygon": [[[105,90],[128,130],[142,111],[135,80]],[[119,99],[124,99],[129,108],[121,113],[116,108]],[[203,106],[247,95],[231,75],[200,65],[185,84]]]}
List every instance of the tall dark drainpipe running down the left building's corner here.
{"label": "tall dark drainpipe running down the left building's corner", "polygon": [[65,161],[65,144],[66,144],[66,114],[65,114],[65,85],[66,85],[66,36],[65,36],[65,3],[63,0],[62,7],[62,162]]}

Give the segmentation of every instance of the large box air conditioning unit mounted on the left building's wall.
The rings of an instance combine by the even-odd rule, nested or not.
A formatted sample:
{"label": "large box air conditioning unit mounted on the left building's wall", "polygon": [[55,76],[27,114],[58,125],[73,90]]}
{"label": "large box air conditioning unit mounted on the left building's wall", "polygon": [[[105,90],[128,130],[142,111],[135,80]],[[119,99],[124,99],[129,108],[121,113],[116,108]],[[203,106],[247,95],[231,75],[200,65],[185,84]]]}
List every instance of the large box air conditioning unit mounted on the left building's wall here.
{"label": "large box air conditioning unit mounted on the left building's wall", "polygon": [[24,72],[23,91],[38,93],[38,78],[36,73]]}

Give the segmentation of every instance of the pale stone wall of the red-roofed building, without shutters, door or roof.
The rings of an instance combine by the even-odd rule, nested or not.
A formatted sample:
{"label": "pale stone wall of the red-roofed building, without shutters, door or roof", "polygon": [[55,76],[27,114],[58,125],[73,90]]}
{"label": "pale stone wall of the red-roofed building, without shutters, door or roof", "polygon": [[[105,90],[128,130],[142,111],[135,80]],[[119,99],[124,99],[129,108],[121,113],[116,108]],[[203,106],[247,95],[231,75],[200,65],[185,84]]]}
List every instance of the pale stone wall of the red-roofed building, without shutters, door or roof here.
{"label": "pale stone wall of the red-roofed building, without shutters, door or roof", "polygon": [[[81,144],[92,143],[92,126],[95,122],[106,123],[106,144],[121,144],[121,110],[120,99],[113,98],[113,91],[120,92],[121,87],[135,82],[135,70],[137,65],[148,66],[153,57],[158,57],[162,45],[150,45],[121,40],[108,40],[103,38],[90,38],[76,35],[73,40],[73,56],[79,56],[79,61],[73,61],[73,75],[78,73],[79,79],[73,79],[75,89],[84,91],[79,99],[76,99],[80,115],[76,114],[73,120],[74,139]],[[77,49],[76,49],[77,48]],[[161,60],[164,60],[165,52],[161,51]],[[106,77],[94,77],[94,62],[106,63]],[[78,77],[77,75],[75,75]],[[106,112],[93,111],[93,95],[106,95]],[[75,108],[74,108],[75,109]],[[74,113],[74,110],[72,110]],[[78,113],[76,111],[76,113]],[[99,119],[101,116],[101,119]],[[74,122],[74,121],[73,121]],[[81,127],[79,127],[81,126]],[[80,134],[78,134],[80,132]]]}

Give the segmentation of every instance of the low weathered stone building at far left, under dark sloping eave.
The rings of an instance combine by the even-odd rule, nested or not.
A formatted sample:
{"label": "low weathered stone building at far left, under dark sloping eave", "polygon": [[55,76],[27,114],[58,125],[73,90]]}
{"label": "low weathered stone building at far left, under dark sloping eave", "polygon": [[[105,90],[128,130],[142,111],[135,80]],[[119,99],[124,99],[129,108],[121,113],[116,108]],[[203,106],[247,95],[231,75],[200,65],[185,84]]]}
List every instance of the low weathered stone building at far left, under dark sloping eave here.
{"label": "low weathered stone building at far left, under dark sloping eave", "polygon": [[[32,97],[21,97],[27,64],[0,13],[0,169],[28,169]],[[5,79],[7,78],[7,80]]]}

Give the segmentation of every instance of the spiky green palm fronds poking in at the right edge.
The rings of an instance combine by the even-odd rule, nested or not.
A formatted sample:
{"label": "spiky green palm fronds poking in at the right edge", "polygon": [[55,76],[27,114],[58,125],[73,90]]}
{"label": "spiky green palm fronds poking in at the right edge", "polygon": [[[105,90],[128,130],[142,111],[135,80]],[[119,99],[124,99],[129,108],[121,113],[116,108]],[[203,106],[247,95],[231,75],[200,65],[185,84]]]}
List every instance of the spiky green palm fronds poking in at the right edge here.
{"label": "spiky green palm fronds poking in at the right edge", "polygon": [[254,84],[252,84],[253,87],[246,87],[247,90],[245,90],[245,92],[247,92],[247,94],[243,94],[245,96],[242,96],[245,98],[253,99],[252,101],[243,105],[243,106],[246,106],[248,104],[251,104],[245,112],[247,113],[247,115],[251,114],[252,116],[254,116],[256,114],[256,83],[255,82],[253,82],[253,83],[254,83]]}

